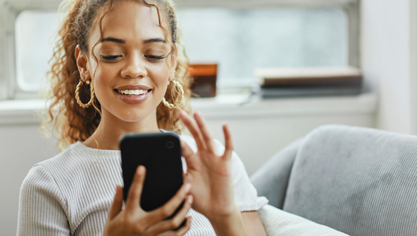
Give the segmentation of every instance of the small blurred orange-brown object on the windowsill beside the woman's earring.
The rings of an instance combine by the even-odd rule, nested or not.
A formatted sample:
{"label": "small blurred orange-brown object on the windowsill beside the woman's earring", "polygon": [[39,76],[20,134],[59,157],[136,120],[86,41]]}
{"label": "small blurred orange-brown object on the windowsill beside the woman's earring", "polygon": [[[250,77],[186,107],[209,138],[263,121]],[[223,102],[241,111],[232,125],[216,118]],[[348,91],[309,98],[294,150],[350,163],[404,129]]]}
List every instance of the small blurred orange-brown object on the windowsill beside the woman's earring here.
{"label": "small blurred orange-brown object on the windowsill beside the woman's earring", "polygon": [[217,64],[190,64],[188,72],[194,79],[191,86],[194,98],[216,96]]}

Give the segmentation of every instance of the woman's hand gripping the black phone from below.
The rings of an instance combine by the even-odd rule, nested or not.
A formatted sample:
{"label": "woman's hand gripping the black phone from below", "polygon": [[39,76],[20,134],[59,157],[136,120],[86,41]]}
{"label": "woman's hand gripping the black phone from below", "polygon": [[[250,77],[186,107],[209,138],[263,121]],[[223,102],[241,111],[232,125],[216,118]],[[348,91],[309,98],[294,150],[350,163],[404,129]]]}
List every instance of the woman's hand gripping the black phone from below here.
{"label": "woman's hand gripping the black phone from below", "polygon": [[[125,209],[123,209],[123,190],[116,186],[116,195],[114,196],[111,209],[108,211],[106,225],[104,225],[104,235],[184,235],[189,230],[191,218],[187,217],[187,222],[182,228],[178,228],[185,220],[186,214],[191,208],[193,201],[192,195],[189,194],[190,185],[182,185],[175,196],[166,204],[154,211],[144,211],[140,206],[140,196],[145,178],[144,166],[137,168],[133,183],[130,187]],[[185,201],[182,209],[169,220],[175,209]]]}

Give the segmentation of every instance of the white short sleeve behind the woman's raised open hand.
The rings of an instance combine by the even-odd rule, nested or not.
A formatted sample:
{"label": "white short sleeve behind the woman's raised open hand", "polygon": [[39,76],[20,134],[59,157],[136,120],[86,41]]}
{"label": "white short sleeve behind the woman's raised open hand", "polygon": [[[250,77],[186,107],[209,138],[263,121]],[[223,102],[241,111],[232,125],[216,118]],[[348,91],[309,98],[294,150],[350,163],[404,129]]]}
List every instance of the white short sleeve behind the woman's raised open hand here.
{"label": "white short sleeve behind the woman's raised open hand", "polygon": [[[218,140],[215,143],[218,153],[223,153],[225,147]],[[268,204],[266,197],[258,197],[258,192],[249,181],[244,164],[236,152],[232,154],[232,183],[235,202],[240,211],[257,211]]]}

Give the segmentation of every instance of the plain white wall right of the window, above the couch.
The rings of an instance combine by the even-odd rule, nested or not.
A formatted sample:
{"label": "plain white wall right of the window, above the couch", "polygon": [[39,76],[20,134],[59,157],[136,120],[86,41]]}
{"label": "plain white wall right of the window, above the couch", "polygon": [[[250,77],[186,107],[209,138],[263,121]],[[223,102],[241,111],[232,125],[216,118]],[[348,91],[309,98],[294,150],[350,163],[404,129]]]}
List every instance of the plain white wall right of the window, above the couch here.
{"label": "plain white wall right of the window, above the couch", "polygon": [[[361,66],[378,91],[378,128],[414,133],[416,97],[410,64],[410,3],[361,1]],[[413,65],[415,67],[415,65]]]}

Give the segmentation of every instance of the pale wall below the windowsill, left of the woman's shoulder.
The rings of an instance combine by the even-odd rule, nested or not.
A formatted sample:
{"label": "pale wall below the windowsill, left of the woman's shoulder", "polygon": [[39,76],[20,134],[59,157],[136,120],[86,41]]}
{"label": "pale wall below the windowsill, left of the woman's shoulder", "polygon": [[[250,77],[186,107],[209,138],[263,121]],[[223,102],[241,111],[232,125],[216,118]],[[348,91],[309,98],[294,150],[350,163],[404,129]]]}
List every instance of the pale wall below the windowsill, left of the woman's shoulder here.
{"label": "pale wall below the windowsill, left of the woman's shoulder", "polygon": [[56,153],[53,140],[46,140],[39,125],[0,125],[0,235],[15,235],[20,185],[30,168]]}

